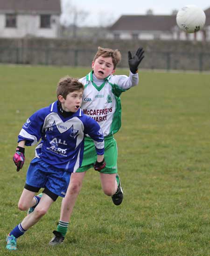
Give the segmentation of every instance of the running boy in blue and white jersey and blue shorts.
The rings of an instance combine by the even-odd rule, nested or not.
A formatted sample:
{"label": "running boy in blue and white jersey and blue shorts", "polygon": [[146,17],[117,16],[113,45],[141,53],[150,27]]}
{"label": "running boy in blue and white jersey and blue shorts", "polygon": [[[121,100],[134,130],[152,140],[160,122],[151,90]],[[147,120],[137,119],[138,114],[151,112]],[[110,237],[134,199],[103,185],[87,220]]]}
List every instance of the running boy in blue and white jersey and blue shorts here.
{"label": "running boy in blue and white jersey and blue shorts", "polygon": [[[16,240],[37,223],[57,197],[64,197],[70,176],[82,163],[84,136],[95,143],[97,161],[95,169],[105,167],[104,136],[100,126],[80,109],[84,86],[69,76],[57,85],[57,101],[36,111],[22,126],[14,163],[19,171],[25,161],[25,146],[35,145],[35,158],[28,167],[26,183],[18,207],[32,211],[7,236],[9,250],[16,250]],[[40,188],[43,193],[35,196]]]}

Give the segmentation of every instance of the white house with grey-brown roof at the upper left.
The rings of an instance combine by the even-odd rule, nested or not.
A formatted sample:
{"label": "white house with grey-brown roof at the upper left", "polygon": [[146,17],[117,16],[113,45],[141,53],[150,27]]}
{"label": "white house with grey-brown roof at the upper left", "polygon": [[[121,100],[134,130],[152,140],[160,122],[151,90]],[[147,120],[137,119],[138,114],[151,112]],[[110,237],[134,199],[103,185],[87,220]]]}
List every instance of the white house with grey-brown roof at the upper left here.
{"label": "white house with grey-brown roof at the upper left", "polygon": [[0,37],[58,37],[60,0],[0,0]]}

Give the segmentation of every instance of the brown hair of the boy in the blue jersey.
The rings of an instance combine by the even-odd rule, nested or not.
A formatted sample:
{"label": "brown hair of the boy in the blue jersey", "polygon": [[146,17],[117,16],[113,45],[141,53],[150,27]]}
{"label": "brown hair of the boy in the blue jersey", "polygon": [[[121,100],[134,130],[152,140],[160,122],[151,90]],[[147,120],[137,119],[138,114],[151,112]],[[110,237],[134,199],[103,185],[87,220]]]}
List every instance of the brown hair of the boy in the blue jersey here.
{"label": "brown hair of the boy in the blue jersey", "polygon": [[79,91],[80,89],[84,90],[84,85],[76,78],[67,75],[61,78],[57,84],[57,98],[59,95],[62,95],[66,99],[69,93]]}

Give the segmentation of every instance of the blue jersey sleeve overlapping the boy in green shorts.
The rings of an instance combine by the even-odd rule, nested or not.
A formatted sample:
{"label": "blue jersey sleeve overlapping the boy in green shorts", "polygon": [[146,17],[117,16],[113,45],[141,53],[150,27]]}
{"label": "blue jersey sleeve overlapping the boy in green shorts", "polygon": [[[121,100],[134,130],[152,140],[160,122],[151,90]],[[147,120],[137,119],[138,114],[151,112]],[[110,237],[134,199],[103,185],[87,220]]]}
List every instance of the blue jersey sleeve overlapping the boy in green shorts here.
{"label": "blue jersey sleeve overlapping the boy in green shorts", "polygon": [[91,117],[86,117],[84,133],[93,139],[97,154],[104,154],[104,134],[100,125]]}

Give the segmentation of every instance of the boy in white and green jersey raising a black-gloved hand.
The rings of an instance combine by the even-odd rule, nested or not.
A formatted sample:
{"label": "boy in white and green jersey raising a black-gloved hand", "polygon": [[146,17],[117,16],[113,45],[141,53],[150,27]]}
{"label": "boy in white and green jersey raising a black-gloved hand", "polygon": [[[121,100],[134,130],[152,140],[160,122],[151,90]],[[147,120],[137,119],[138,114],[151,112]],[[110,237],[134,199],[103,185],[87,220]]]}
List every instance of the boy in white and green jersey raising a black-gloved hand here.
{"label": "boy in white and green jersey raising a black-gloved hand", "polygon": [[[90,137],[84,141],[84,157],[80,168],[71,175],[70,184],[66,196],[62,201],[61,215],[55,236],[49,242],[56,245],[63,242],[67,232],[73,207],[82,187],[82,181],[86,171],[92,167],[100,173],[101,185],[107,196],[112,196],[115,205],[120,205],[123,200],[123,190],[120,184],[117,170],[117,143],[113,134],[119,131],[121,126],[121,102],[122,92],[138,85],[138,66],[144,58],[144,51],[139,48],[132,56],[128,52],[129,76],[113,75],[115,68],[121,60],[118,50],[98,47],[98,51],[92,61],[92,71],[80,79],[84,84],[84,94],[81,109],[84,114],[92,117],[100,125],[105,136],[105,168],[97,169],[94,142]],[[97,166],[103,165],[103,161]]]}

